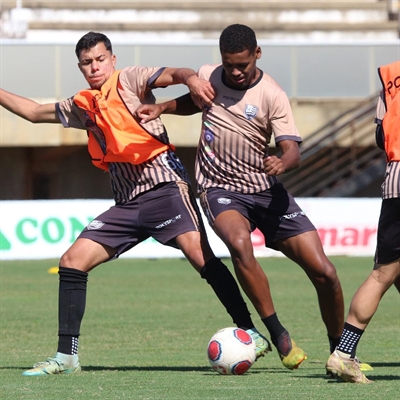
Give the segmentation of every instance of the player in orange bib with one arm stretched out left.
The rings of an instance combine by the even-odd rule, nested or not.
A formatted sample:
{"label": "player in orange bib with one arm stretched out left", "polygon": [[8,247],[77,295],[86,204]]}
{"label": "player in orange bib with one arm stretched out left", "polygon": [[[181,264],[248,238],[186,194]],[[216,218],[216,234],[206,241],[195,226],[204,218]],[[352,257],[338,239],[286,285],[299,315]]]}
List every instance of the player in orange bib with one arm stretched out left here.
{"label": "player in orange bib with one arm stretched out left", "polygon": [[52,104],[0,89],[0,105],[34,123],[61,123],[87,130],[93,164],[109,173],[115,205],[93,220],[59,264],[57,353],[26,376],[72,374],[80,370],[78,338],[85,311],[88,273],[152,236],[179,248],[213,288],[233,321],[255,339],[257,356],[268,351],[236,280],[207,241],[189,179],[161,120],[144,127],[135,118],[142,103],[154,103],[152,88],[186,84],[198,100],[212,88],[186,68],[127,67],[115,70],[110,40],[89,32],[76,45],[78,66],[90,88]]}

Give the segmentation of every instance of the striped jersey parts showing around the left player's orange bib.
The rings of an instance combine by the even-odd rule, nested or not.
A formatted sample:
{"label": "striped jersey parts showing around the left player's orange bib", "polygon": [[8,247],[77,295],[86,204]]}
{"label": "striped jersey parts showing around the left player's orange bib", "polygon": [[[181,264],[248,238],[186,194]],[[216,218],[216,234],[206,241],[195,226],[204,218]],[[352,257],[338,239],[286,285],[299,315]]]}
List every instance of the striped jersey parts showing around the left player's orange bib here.
{"label": "striped jersey parts showing around the left player's orange bib", "polygon": [[[135,118],[136,109],[140,104],[155,103],[155,97],[150,89],[162,71],[163,68],[156,67],[127,67],[121,70],[118,93],[130,113],[129,115],[124,110],[121,116],[126,118],[126,115],[129,115],[129,118]],[[89,130],[100,146],[105,148],[105,137],[101,129],[94,123],[88,126],[87,111],[76,105],[74,97],[57,103],[56,107],[64,127]],[[160,145],[168,144],[167,132],[159,118],[142,127],[149,135],[157,138]],[[116,203],[128,202],[138,194],[163,182],[189,182],[185,168],[172,150],[167,150],[142,164],[111,162],[108,165],[108,172]]]}

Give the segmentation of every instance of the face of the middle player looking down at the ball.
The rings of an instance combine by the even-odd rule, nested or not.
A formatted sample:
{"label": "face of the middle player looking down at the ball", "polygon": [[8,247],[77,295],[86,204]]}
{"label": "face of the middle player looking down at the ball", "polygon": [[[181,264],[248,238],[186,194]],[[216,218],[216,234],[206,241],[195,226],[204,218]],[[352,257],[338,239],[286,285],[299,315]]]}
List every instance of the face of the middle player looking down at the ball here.
{"label": "face of the middle player looking down at the ball", "polygon": [[260,57],[260,47],[257,47],[254,52],[245,50],[234,54],[222,53],[222,65],[229,85],[238,89],[246,89],[254,83],[260,75],[256,66]]}

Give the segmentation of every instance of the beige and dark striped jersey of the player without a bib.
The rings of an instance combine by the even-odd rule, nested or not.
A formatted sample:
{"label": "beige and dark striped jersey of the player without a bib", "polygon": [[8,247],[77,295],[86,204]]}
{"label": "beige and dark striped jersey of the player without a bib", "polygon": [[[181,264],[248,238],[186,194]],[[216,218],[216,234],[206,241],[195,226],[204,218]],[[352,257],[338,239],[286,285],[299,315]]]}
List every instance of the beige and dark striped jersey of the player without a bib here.
{"label": "beige and dark striped jersey of the player without a bib", "polygon": [[259,79],[244,90],[228,87],[223,74],[222,65],[204,65],[198,73],[217,93],[212,106],[203,109],[196,157],[198,190],[220,187],[241,193],[264,191],[277,182],[263,167],[272,135],[276,143],[302,141],[289,99],[262,71]]}

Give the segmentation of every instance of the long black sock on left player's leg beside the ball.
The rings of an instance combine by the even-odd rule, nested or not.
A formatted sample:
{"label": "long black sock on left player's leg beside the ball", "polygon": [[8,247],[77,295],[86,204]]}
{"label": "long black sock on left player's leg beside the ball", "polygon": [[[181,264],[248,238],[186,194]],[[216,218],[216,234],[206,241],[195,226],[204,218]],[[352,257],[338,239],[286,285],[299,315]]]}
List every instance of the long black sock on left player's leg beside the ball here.
{"label": "long black sock on left player's leg beside the ball", "polygon": [[250,312],[240,293],[235,278],[219,258],[207,261],[200,276],[213,288],[233,322],[244,330],[254,328]]}

